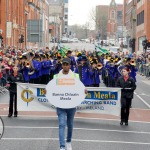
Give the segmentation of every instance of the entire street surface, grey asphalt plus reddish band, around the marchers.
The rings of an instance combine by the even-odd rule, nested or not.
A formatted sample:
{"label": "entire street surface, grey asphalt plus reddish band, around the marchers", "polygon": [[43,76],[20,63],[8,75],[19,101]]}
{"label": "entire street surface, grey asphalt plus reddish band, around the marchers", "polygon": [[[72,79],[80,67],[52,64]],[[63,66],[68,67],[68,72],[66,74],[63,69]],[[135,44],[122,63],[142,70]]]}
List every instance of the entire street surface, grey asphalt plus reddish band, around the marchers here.
{"label": "entire street surface, grey asphalt plus reddish band, around the marchers", "polygon": [[[73,149],[150,149],[150,81],[139,75],[137,81],[129,126],[120,126],[120,120],[115,116],[77,112]],[[5,125],[0,141],[1,149],[59,149],[55,112],[19,112],[18,118],[8,118],[7,99],[8,95],[4,95],[1,98],[3,104],[0,105],[0,114]]]}

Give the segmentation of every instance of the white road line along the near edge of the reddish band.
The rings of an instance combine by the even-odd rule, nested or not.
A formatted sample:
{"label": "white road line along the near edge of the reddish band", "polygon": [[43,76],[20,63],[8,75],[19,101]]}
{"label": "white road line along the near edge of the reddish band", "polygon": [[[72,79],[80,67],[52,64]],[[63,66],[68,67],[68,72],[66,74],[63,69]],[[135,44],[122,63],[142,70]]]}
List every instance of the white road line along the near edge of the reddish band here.
{"label": "white road line along the near edge of the reddish band", "polygon": [[[1,117],[7,117],[8,115],[1,115]],[[28,118],[58,118],[57,116],[39,116],[39,115],[19,115],[19,117],[28,117]],[[11,119],[11,118],[10,118]],[[16,118],[15,118],[16,119]],[[120,122],[120,119],[106,119],[106,118],[87,118],[87,117],[75,117],[75,119],[82,119],[82,120],[102,120],[102,121],[116,121]],[[134,121],[134,120],[129,120],[132,123],[145,123],[145,124],[150,124],[150,122],[146,121]]]}

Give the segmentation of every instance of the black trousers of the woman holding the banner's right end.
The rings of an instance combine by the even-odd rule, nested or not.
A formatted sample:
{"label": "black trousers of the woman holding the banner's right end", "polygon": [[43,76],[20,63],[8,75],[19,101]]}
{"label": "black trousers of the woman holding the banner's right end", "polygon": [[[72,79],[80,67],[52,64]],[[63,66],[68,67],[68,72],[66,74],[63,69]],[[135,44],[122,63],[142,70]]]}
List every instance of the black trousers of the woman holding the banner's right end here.
{"label": "black trousers of the woman holding the banner's right end", "polygon": [[132,99],[124,99],[124,100],[125,102],[123,102],[124,104],[121,106],[121,121],[128,122]]}

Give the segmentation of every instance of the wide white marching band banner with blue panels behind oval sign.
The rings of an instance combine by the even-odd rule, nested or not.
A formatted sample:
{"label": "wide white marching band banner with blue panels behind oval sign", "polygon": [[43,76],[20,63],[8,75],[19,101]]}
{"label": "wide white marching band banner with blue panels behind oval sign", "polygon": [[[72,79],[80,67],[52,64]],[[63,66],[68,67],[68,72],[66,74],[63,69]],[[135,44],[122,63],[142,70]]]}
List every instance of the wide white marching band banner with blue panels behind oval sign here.
{"label": "wide white marching band banner with blue panels behind oval sign", "polygon": [[[19,111],[55,111],[45,96],[46,85],[18,83],[17,100]],[[120,116],[120,88],[86,87],[88,94],[77,111]]]}

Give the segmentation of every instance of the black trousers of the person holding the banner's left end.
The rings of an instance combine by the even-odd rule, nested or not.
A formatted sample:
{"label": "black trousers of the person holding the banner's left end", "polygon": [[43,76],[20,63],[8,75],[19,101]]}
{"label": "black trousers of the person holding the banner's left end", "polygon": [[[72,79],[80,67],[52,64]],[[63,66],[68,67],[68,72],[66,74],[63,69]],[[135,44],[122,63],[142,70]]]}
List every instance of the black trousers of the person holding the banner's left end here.
{"label": "black trousers of the person holding the banner's left end", "polygon": [[14,104],[14,115],[17,115],[17,92],[10,92],[9,101],[9,114],[13,114],[13,104]]}

